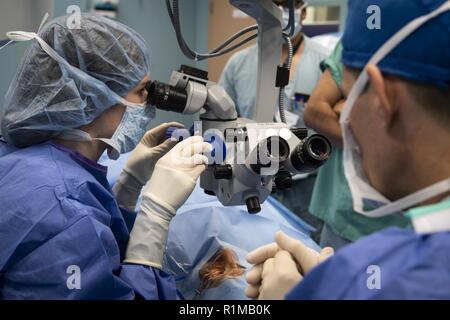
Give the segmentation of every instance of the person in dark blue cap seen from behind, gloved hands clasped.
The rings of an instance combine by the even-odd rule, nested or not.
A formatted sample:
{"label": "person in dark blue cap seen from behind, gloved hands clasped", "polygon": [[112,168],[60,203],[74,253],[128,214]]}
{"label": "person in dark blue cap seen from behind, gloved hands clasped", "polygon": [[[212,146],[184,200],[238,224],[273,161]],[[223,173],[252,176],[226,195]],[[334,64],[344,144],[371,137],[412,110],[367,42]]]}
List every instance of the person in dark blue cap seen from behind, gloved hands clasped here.
{"label": "person in dark blue cap seen from behind, gloved hands clasped", "polygon": [[340,122],[353,209],[373,219],[405,215],[413,228],[387,228],[335,255],[280,232],[247,256],[246,293],[450,299],[450,1],[351,0],[343,47]]}

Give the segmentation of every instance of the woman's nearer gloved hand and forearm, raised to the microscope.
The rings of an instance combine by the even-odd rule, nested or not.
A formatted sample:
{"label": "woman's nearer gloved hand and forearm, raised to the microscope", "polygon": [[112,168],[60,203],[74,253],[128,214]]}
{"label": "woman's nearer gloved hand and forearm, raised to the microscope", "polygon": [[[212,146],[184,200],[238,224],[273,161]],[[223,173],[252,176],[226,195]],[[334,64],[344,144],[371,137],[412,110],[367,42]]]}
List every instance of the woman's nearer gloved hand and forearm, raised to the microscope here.
{"label": "woman's nearer gloved hand and forearm, raised to the microscope", "polygon": [[156,164],[144,188],[142,204],[131,231],[125,262],[161,268],[169,224],[194,190],[212,149],[202,137],[176,145]]}

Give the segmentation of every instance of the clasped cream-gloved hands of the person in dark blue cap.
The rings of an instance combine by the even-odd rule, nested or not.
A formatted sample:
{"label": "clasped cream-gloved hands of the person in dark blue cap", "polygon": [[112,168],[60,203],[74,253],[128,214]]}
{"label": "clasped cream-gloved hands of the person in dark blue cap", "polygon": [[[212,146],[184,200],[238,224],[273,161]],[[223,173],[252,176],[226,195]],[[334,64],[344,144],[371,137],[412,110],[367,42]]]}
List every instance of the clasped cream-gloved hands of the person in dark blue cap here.
{"label": "clasped cream-gloved hands of the person in dark blue cap", "polygon": [[[254,264],[255,266],[249,271],[247,274],[247,282],[249,284],[249,287],[247,287],[245,293],[249,298],[257,298],[260,296],[262,288],[261,283],[263,279],[263,272],[265,267],[265,262],[271,258],[274,258],[278,252],[280,251],[286,251],[290,253],[292,258],[294,259],[296,265],[297,265],[297,271],[294,272],[293,269],[286,269],[286,272],[289,272],[289,274],[281,274],[283,277],[287,277],[289,279],[298,279],[300,280],[297,275],[297,272],[300,276],[304,276],[307,274],[311,269],[316,267],[318,264],[325,261],[327,258],[332,256],[334,254],[334,250],[331,247],[327,247],[321,250],[321,252],[316,252],[315,250],[305,246],[301,241],[298,241],[292,237],[289,237],[285,233],[279,231],[275,235],[275,243],[271,243],[265,246],[262,246],[252,252],[250,252],[247,255],[247,261],[249,263]],[[286,259],[283,257],[283,261],[285,263]],[[274,262],[274,261],[273,261]],[[270,266],[273,265],[273,262],[269,262],[269,271],[273,270],[270,269]],[[266,271],[265,275],[268,275],[269,271]],[[276,272],[280,272],[280,270],[276,270]],[[279,275],[279,274],[276,274]],[[279,279],[280,282],[283,279]],[[286,280],[286,279],[285,279]],[[286,283],[287,281],[284,281]],[[285,285],[282,289],[286,290],[288,285]],[[291,287],[292,288],[292,287]],[[265,296],[270,297],[270,291],[274,290],[271,286],[268,286],[265,288]],[[269,290],[269,291],[267,291]],[[290,288],[289,288],[290,290]],[[284,292],[284,295],[289,291],[286,290]],[[269,293],[268,293],[269,292]],[[275,296],[280,296],[280,291],[275,292]],[[283,295],[283,297],[284,297]],[[281,298],[283,298],[281,297]]]}

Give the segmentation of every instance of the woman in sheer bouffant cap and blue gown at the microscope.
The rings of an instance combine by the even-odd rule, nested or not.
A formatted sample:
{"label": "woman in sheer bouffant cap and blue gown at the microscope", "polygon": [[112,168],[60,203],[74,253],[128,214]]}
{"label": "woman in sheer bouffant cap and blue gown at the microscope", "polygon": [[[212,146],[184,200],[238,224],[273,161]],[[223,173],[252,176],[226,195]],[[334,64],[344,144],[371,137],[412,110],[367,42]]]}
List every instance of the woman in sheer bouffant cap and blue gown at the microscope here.
{"label": "woman in sheer bouffant cap and blue gown at the microscope", "polygon": [[[8,34],[31,43],[2,119],[0,299],[174,299],[161,270],[168,226],[210,146],[165,140],[176,123],[147,132],[140,35],[93,14],[79,28],[66,19]],[[114,190],[97,163],[105,150],[134,150]]]}

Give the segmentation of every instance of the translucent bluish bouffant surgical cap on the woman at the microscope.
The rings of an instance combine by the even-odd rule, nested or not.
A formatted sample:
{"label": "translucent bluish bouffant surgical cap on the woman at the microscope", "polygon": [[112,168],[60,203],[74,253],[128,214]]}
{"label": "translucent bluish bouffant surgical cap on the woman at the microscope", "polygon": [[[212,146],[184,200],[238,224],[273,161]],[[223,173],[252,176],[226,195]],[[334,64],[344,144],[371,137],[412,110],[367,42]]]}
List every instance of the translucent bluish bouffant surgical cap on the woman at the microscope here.
{"label": "translucent bluish bouffant surgical cap on the woman at the microscope", "polygon": [[147,45],[136,31],[95,14],[82,14],[78,29],[67,19],[38,35],[68,64],[33,40],[6,94],[2,135],[17,147],[91,123],[149,72]]}

